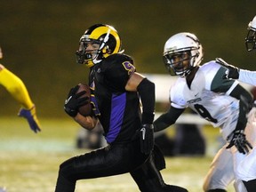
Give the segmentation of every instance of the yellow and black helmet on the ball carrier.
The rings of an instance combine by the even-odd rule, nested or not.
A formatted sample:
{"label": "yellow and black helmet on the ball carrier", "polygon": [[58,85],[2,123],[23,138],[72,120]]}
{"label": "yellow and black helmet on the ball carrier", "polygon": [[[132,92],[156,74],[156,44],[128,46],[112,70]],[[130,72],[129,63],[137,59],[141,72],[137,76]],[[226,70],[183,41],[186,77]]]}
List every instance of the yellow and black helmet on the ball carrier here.
{"label": "yellow and black helmet on the ball carrier", "polygon": [[[88,44],[98,44],[96,50],[86,51]],[[76,51],[76,62],[91,68],[103,58],[120,52],[121,39],[115,28],[105,24],[96,24],[88,28],[80,38],[79,49]]]}

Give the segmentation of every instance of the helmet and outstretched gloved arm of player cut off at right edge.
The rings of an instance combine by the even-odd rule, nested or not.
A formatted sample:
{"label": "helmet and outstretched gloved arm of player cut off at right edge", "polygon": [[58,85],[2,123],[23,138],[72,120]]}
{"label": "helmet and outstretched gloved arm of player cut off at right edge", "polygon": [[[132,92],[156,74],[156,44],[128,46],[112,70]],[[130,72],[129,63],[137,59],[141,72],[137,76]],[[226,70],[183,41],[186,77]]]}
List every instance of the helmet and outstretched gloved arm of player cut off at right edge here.
{"label": "helmet and outstretched gloved arm of player cut off at right edge", "polygon": [[[248,34],[245,38],[246,50],[248,52],[256,51],[256,16],[248,24]],[[228,68],[225,78],[238,79],[245,84],[256,85],[256,71],[236,68],[226,62],[220,63],[225,68]]]}

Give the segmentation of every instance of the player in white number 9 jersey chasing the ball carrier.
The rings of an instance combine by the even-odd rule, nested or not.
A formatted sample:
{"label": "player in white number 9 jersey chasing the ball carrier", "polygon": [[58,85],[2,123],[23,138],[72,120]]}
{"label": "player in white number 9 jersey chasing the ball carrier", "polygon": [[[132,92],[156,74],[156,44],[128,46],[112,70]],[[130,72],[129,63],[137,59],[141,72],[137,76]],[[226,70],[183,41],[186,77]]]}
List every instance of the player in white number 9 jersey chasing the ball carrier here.
{"label": "player in white number 9 jersey chasing the ball carrier", "polygon": [[[193,109],[214,127],[220,127],[223,139],[227,140],[213,159],[204,191],[226,191],[234,179],[236,190],[240,190],[237,183],[242,180],[248,192],[255,191],[256,128],[252,129],[250,121],[247,124],[246,117],[251,110],[248,103],[252,103],[252,95],[235,80],[222,78],[226,68],[218,63],[223,60],[199,66],[203,55],[202,44],[191,33],[171,36],[164,44],[165,67],[180,78],[170,91],[171,107],[154,122],[155,131],[175,124],[185,108]],[[253,120],[253,113],[250,116]]]}

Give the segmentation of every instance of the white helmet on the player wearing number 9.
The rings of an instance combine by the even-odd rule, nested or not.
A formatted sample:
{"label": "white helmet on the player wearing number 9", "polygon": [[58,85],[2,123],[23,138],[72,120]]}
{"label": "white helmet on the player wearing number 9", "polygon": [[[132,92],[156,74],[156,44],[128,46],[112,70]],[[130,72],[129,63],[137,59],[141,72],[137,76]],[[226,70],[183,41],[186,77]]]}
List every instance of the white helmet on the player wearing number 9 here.
{"label": "white helmet on the player wearing number 9", "polygon": [[[180,57],[179,63],[174,58]],[[171,36],[164,44],[164,64],[171,76],[185,77],[193,68],[199,66],[204,52],[198,38],[191,33],[183,32]],[[188,65],[183,61],[188,60]]]}

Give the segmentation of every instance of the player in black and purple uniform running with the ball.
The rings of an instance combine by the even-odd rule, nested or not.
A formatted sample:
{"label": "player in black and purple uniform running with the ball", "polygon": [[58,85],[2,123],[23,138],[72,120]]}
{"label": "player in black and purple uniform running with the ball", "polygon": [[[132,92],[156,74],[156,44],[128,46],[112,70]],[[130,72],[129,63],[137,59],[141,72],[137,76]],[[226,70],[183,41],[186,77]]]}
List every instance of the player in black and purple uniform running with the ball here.
{"label": "player in black and purple uniform running with the ball", "polygon": [[[55,192],[75,191],[76,180],[126,172],[140,191],[188,191],[165,184],[159,172],[164,156],[154,146],[155,84],[137,73],[132,58],[121,52],[116,29],[104,24],[88,28],[80,38],[76,59],[90,68],[92,98],[81,100],[76,86],[68,94],[65,111],[87,130],[99,121],[108,145],[60,164]],[[93,114],[82,116],[78,108],[88,102],[93,103]]]}

